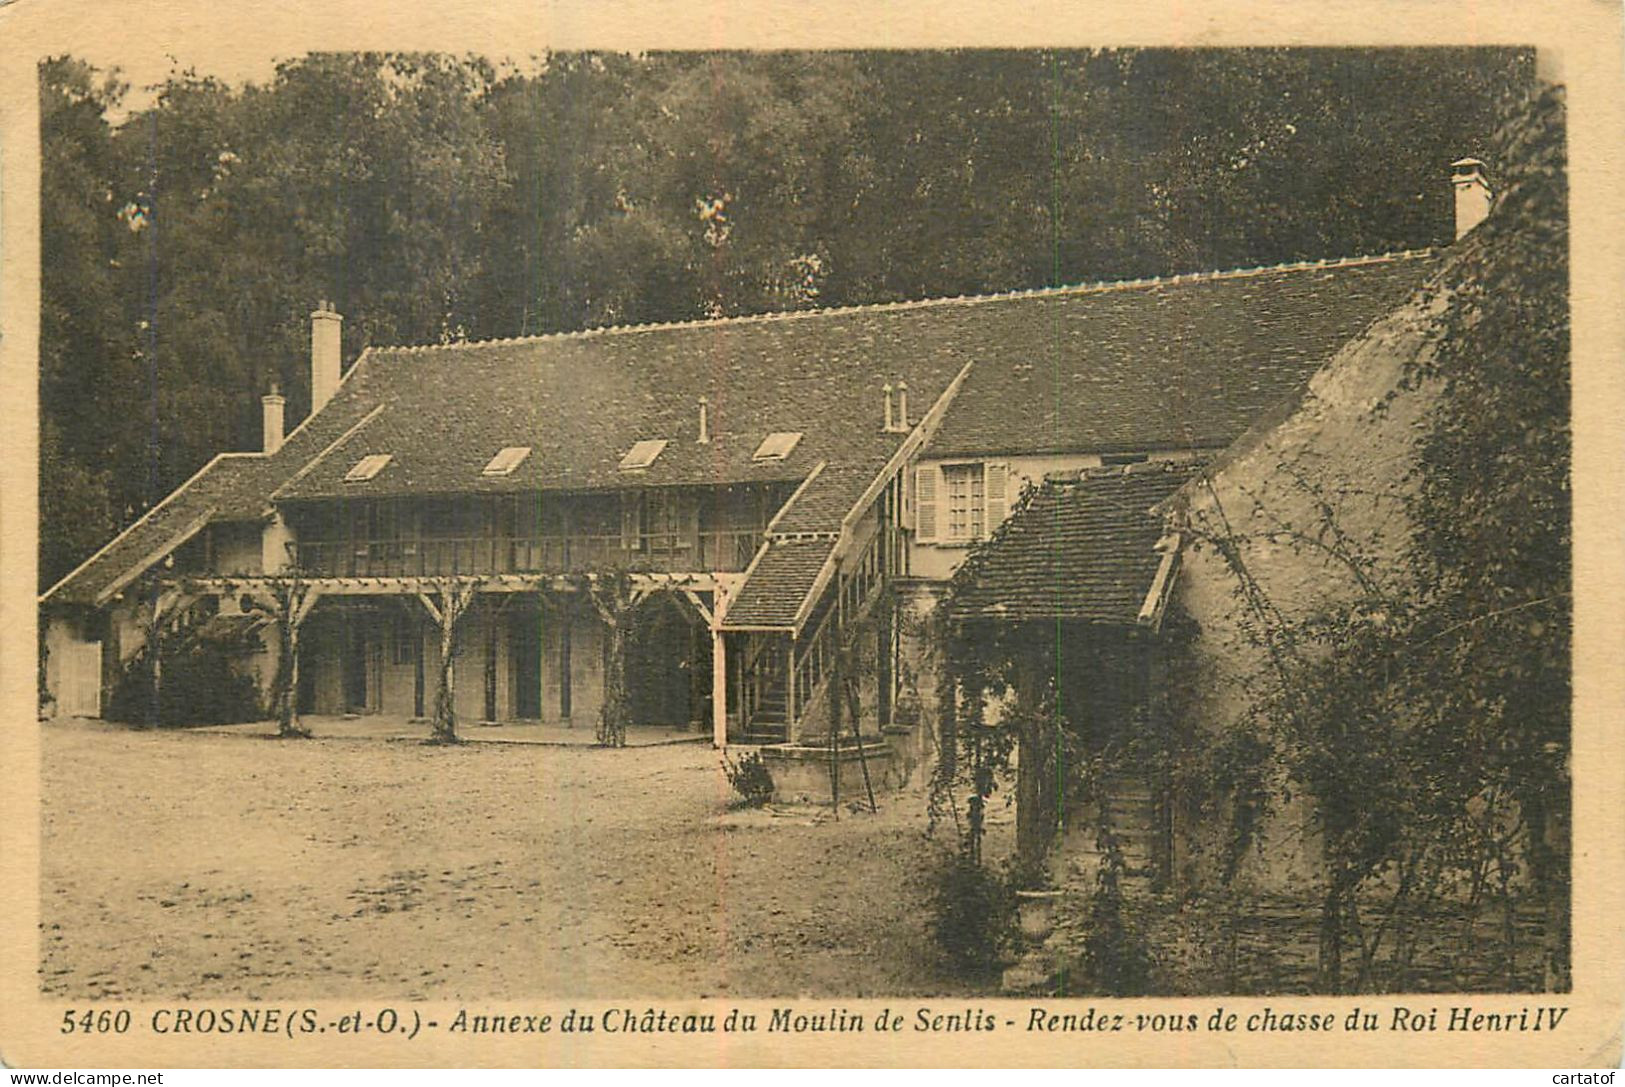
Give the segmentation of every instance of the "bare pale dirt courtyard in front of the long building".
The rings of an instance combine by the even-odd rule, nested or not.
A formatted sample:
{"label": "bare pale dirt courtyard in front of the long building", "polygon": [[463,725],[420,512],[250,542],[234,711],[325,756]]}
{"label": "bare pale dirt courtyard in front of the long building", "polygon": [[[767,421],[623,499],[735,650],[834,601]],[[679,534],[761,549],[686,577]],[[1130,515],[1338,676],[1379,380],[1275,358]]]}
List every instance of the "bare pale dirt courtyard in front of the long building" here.
{"label": "bare pale dirt courtyard in front of the long building", "polygon": [[44,726],[41,980],[88,998],[960,993],[925,799],[730,812],[717,752]]}

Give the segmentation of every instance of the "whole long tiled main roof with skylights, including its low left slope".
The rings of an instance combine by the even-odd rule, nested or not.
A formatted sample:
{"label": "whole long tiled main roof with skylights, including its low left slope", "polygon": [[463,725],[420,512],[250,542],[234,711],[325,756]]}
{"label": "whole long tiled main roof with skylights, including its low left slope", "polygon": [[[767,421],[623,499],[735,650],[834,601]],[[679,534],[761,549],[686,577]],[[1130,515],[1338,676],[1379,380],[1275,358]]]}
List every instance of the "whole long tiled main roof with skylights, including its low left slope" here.
{"label": "whole long tiled main roof with skylights, including its low left slope", "polygon": [[[46,598],[99,603],[200,522],[260,517],[283,500],[798,483],[826,463],[777,530],[838,531],[904,440],[882,431],[879,387],[908,382],[918,418],[965,364],[968,379],[928,453],[1217,445],[1295,392],[1435,263],[1430,253],[1396,253],[374,348],[281,450],[216,458]],[[699,396],[708,400],[705,444],[696,440]],[[804,437],[783,460],[754,460],[775,431]],[[621,458],[647,439],[668,445],[648,468],[622,471]],[[484,474],[491,457],[514,445],[528,445],[530,457],[510,474]],[[377,476],[344,481],[375,453],[390,455]],[[811,588],[816,569],[803,577]],[[777,600],[791,593],[788,580],[777,582]]]}

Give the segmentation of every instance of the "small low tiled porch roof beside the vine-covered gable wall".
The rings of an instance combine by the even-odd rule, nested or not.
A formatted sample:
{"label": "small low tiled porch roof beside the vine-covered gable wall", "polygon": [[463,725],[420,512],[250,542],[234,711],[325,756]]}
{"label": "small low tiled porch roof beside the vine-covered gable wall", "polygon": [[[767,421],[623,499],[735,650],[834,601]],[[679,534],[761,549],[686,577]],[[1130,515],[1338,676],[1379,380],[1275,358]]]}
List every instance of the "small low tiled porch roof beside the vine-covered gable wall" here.
{"label": "small low tiled porch roof beside the vine-covered gable wall", "polygon": [[1152,507],[1196,471],[1149,463],[1046,481],[956,575],[954,616],[1133,626],[1162,561]]}

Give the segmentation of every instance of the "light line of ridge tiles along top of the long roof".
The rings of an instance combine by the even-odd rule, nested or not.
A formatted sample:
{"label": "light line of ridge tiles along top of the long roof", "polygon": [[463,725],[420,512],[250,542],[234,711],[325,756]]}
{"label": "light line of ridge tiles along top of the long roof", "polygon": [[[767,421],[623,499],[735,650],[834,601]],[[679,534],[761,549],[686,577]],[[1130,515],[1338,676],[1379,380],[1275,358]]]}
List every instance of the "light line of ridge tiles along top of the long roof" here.
{"label": "light line of ridge tiles along top of the long roof", "polygon": [[1087,283],[1069,283],[1043,288],[1014,288],[1009,291],[991,291],[986,294],[954,294],[925,299],[902,299],[895,302],[858,302],[853,305],[830,305],[804,310],[769,310],[765,314],[738,314],[733,317],[694,317],[687,320],[644,322],[626,325],[593,325],[590,328],[570,328],[564,331],[531,333],[528,336],[492,336],[488,340],[455,340],[450,343],[414,343],[398,346],[374,346],[380,353],[429,354],[447,348],[497,348],[509,344],[546,343],[551,340],[588,340],[608,335],[626,335],[637,331],[666,331],[678,328],[730,328],[738,325],[756,325],[765,322],[785,322],[806,317],[838,317],[848,314],[907,312],[915,309],[931,309],[946,305],[972,305],[982,302],[1004,302],[1024,297],[1068,297],[1077,294],[1103,294],[1108,291],[1144,289],[1154,286],[1185,286],[1191,283],[1225,283],[1245,279],[1248,276],[1274,275],[1284,271],[1308,271],[1313,268],[1352,268],[1399,260],[1417,260],[1432,257],[1436,247],[1401,249],[1386,253],[1363,253],[1354,257],[1326,257],[1321,260],[1298,260],[1276,265],[1256,265],[1251,268],[1217,268],[1207,271],[1181,271],[1172,276],[1142,276],[1138,279],[1094,279]]}

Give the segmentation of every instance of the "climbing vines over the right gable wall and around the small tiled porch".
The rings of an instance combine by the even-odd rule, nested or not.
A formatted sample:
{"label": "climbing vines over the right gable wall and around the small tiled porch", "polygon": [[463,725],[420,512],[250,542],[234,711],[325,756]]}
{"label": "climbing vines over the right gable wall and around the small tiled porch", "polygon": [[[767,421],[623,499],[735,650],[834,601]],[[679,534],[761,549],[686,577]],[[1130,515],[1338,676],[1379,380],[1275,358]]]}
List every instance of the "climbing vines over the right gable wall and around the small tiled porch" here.
{"label": "climbing vines over the right gable wall and around the small tiled porch", "polygon": [[[1248,489],[1232,471],[1224,494],[1199,486],[1191,496],[1180,525],[1186,554],[1209,556],[1227,577],[1233,606],[1225,622],[1256,661],[1238,676],[1242,713],[1212,721],[1211,743],[1152,730],[1139,751],[1084,756],[1068,744],[1069,707],[1037,674],[1055,665],[1043,658],[1043,632],[959,621],[949,590],[933,639],[942,746],[931,811],[952,819],[970,861],[982,861],[986,806],[1009,778],[1012,752],[1064,798],[1055,806],[1063,812],[1113,764],[1160,759],[1186,822],[1220,824],[1207,886],[1230,908],[1246,908],[1237,884],[1246,858],[1282,825],[1272,816],[1308,801],[1295,811],[1313,830],[1305,856],[1318,866],[1320,991],[1404,990],[1424,970],[1430,988],[1568,986],[1562,93],[1518,104],[1498,141],[1497,210],[1412,305],[1406,335],[1424,349],[1406,361],[1394,396],[1370,411],[1376,424],[1399,396],[1420,393],[1430,405],[1409,431],[1415,468],[1406,484],[1373,491],[1368,479],[1285,444],[1266,447],[1274,457],[1268,487]],[[1393,507],[1376,518],[1386,528],[1350,520],[1350,510],[1383,504]],[[960,580],[975,578],[988,549],[972,552]],[[1264,572],[1271,556],[1324,577],[1306,598],[1284,598]],[[1178,624],[1170,614],[1168,626]],[[1209,642],[1204,650],[1235,647]],[[1193,702],[1167,718],[1201,713],[1199,692]],[[1001,707],[993,723],[990,704]],[[1024,808],[1030,799],[1022,793]],[[1019,821],[1019,829],[1042,845],[1056,812],[1037,799],[1038,824]],[[1102,830],[1110,861],[1110,829]],[[1113,879],[1113,864],[1103,864],[1103,884]],[[1519,965],[1531,951],[1521,947],[1531,900],[1537,977]],[[1112,895],[1097,905],[1090,939],[1105,947],[1120,918]],[[1424,964],[1424,942],[1441,925],[1459,925],[1458,951],[1443,967]],[[1233,931],[1232,915],[1232,941]],[[1232,980],[1233,960],[1232,946]],[[1131,991],[1136,978],[1113,985]]]}

